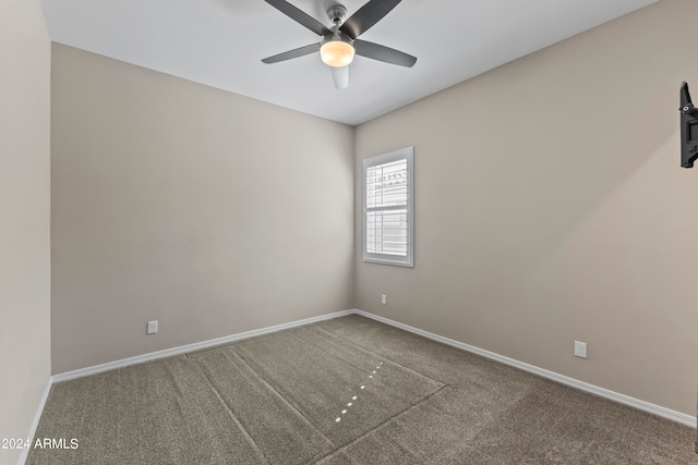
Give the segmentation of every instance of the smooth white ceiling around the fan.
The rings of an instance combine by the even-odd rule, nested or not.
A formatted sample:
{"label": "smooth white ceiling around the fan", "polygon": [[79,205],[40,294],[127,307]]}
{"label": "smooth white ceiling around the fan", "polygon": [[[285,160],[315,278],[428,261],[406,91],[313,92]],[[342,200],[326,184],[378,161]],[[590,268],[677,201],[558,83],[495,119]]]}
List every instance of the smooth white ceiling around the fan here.
{"label": "smooth white ceiling around the fan", "polygon": [[[368,0],[290,0],[322,23]],[[657,0],[402,0],[362,39],[418,58],[357,57],[349,88],[318,54],[262,59],[318,41],[264,0],[43,0],[53,41],[356,125]]]}

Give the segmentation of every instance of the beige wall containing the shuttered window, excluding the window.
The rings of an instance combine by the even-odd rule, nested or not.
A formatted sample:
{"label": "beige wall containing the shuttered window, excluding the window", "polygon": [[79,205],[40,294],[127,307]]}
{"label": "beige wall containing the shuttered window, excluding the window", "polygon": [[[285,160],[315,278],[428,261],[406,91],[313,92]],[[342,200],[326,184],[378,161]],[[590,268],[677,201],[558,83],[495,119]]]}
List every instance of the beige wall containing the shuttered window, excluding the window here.
{"label": "beige wall containing the shuttered window, excluding the window", "polygon": [[360,125],[358,180],[363,158],[414,146],[416,267],[363,264],[357,209],[357,307],[695,414],[688,17],[698,2],[660,1]]}

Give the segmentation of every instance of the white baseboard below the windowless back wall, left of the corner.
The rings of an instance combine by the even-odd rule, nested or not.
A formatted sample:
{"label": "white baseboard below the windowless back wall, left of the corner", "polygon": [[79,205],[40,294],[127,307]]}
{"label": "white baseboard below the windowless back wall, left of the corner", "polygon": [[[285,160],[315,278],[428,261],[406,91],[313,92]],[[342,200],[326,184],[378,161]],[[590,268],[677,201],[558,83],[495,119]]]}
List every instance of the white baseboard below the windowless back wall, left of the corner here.
{"label": "white baseboard below the windowless back wall, left of the corner", "polygon": [[203,342],[195,342],[193,344],[180,345],[178,347],[166,348],[164,351],[151,352],[143,355],[136,355],[135,357],[122,358],[120,360],[108,362],[106,364],[95,365],[92,367],[80,368],[72,371],[65,371],[53,375],[52,382],[68,381],[69,379],[82,378],[84,376],[96,375],[98,372],[112,370],[115,368],[128,367],[129,365],[142,364],[144,362],[155,360],[157,358],[171,357],[173,355],[181,355],[188,352],[200,351],[202,348],[213,347],[215,345],[227,344],[241,339],[253,338],[255,335],[268,334],[270,332],[280,331],[288,328],[294,328],[302,325],[309,325],[316,321],[328,320],[333,318],[339,318],[347,315],[351,315],[354,310],[342,310],[334,314],[321,315],[318,317],[305,318],[303,320],[291,321],[288,323],[276,325],[268,328],[256,329],[253,331],[241,332],[238,334],[226,335],[222,338],[212,339]]}

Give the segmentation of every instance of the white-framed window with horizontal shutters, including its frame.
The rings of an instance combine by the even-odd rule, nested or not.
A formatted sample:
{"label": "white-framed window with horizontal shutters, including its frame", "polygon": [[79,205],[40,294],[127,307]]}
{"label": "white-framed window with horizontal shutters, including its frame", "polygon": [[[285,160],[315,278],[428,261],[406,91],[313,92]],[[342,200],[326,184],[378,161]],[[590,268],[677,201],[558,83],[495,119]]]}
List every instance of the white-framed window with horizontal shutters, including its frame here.
{"label": "white-framed window with horizontal shutters, including its frame", "polygon": [[363,261],[413,266],[412,154],[363,160]]}

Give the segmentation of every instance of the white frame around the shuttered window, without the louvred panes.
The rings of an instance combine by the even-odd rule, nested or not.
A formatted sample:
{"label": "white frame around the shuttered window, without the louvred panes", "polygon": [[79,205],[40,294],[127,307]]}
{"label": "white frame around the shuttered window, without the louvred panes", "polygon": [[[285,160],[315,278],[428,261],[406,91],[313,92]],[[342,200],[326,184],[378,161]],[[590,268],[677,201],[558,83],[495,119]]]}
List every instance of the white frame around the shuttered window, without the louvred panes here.
{"label": "white frame around the shuttered window, without the louvred panes", "polygon": [[[399,150],[390,151],[388,154],[378,155],[375,157],[370,157],[363,160],[363,261],[373,262],[373,264],[384,264],[384,265],[395,265],[399,267],[414,267],[414,206],[413,206],[413,196],[414,196],[414,147],[405,147]],[[399,160],[407,161],[407,205],[402,209],[407,209],[407,255],[396,256],[388,254],[374,254],[368,252],[368,213],[370,209],[368,207],[368,196],[366,196],[366,172],[370,168],[392,163]],[[385,207],[384,207],[385,208]],[[384,208],[376,208],[384,209]],[[388,207],[393,208],[393,207]]]}

